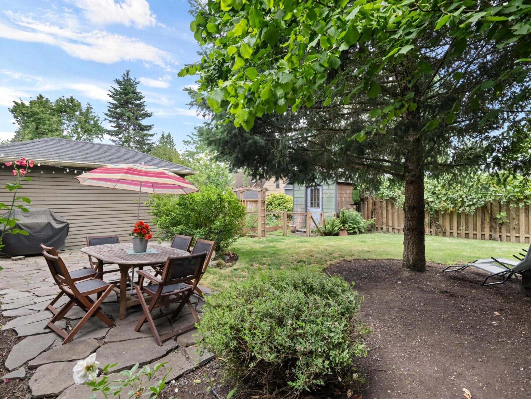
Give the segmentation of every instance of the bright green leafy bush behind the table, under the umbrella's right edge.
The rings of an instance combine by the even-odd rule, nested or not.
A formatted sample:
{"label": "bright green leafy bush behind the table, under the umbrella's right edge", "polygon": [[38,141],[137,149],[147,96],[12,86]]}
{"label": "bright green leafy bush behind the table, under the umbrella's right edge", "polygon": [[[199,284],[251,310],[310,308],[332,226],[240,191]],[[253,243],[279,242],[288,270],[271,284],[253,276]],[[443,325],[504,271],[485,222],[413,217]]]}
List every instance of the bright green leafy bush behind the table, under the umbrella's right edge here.
{"label": "bright green leafy bush behind the table, under the umbrella's right edge", "polygon": [[245,206],[230,190],[204,186],[188,195],[152,195],[148,205],[161,239],[183,234],[213,240],[222,254],[242,235]]}

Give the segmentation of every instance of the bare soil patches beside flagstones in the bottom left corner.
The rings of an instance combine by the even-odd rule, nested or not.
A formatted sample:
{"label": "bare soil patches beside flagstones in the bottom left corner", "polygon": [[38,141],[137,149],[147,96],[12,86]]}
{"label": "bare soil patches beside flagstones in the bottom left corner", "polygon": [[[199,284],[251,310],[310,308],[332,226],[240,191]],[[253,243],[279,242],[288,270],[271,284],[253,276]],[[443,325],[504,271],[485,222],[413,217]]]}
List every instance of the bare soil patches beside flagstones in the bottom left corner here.
{"label": "bare soil patches beside flagstones in the bottom left corner", "polygon": [[[4,326],[13,318],[6,318],[0,314],[0,326]],[[4,367],[5,360],[11,352],[13,346],[18,344],[23,337],[17,337],[13,329],[0,329],[0,376],[6,375],[9,370]],[[8,381],[0,380],[0,399],[18,399],[25,398],[30,393],[29,377],[25,379],[10,379]]]}

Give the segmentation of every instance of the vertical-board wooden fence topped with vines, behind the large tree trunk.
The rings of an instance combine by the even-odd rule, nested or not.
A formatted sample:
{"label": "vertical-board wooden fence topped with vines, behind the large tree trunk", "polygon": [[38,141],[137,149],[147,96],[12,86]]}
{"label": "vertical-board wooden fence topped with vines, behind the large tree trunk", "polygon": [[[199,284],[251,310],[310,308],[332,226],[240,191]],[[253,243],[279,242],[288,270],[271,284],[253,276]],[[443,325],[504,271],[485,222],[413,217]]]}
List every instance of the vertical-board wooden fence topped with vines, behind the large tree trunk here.
{"label": "vertical-board wooden fence topped with vines, behind the large tree trunk", "polygon": [[[512,206],[511,206],[512,205]],[[381,198],[365,198],[361,213],[364,219],[376,219],[375,231],[404,232],[404,211],[391,201]],[[426,234],[441,237],[458,237],[478,240],[499,240],[529,244],[531,204],[500,204],[489,202],[474,213],[438,212],[425,213]]]}

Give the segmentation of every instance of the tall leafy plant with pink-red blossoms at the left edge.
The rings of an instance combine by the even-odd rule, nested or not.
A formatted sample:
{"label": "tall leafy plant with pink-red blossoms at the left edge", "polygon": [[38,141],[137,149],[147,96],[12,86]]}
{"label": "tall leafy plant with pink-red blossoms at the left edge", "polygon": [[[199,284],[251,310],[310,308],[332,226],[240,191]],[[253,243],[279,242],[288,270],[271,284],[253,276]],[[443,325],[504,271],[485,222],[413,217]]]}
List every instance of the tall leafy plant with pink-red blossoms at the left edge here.
{"label": "tall leafy plant with pink-red blossoms at the left edge", "polygon": [[[29,235],[27,231],[15,228],[16,222],[19,219],[12,218],[11,215],[14,209],[20,209],[22,212],[29,212],[29,209],[24,204],[30,204],[30,198],[18,196],[18,191],[19,189],[23,188],[21,184],[22,180],[31,181],[31,177],[27,176],[27,173],[31,171],[31,167],[33,167],[33,161],[22,158],[12,162],[6,162],[5,166],[13,167],[13,177],[15,178],[15,181],[4,186],[4,188],[13,195],[11,204],[0,203],[0,210],[7,210],[5,217],[0,217],[0,226],[2,226],[2,233],[0,234],[0,250],[5,246],[3,244],[5,234],[22,234],[24,236]],[[20,201],[22,201],[24,204],[17,203]],[[3,267],[0,267],[0,270],[3,269]]]}

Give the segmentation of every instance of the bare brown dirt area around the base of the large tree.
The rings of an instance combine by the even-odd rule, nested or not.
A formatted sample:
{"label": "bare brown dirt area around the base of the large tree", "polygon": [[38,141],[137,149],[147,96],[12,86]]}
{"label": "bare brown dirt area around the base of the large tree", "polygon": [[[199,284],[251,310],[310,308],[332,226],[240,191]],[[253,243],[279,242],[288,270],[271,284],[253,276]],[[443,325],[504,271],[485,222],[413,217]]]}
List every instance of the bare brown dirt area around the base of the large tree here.
{"label": "bare brown dirt area around the base of the large tree", "polygon": [[372,329],[364,399],[531,397],[531,300],[515,281],[481,286],[469,268],[410,272],[398,260],[331,265],[365,296],[360,318]]}

